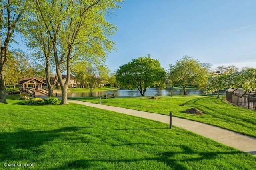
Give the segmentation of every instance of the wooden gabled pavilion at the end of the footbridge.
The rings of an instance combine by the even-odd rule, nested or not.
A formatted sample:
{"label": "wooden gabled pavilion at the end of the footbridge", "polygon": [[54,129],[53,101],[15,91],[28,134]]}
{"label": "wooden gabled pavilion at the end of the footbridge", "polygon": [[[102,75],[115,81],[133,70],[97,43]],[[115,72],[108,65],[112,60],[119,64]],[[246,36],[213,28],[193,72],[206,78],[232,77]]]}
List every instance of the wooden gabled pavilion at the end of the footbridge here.
{"label": "wooden gabled pavilion at the end of the footbridge", "polygon": [[38,77],[22,78],[20,79],[19,86],[23,88],[42,88],[45,85],[45,82]]}

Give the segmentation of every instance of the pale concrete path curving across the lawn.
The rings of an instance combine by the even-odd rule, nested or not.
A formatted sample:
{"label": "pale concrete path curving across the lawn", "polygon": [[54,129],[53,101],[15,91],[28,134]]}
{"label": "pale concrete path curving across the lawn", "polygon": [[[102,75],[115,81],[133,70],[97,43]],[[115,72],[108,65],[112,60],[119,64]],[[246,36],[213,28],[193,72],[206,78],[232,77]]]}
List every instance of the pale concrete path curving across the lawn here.
{"label": "pale concrete path curving across the lawn", "polygon": [[[168,123],[170,117],[168,115],[160,115],[156,113],[149,113],[145,111],[137,111],[132,109],[125,109],[121,107],[107,106],[102,104],[94,104],[90,102],[82,102],[78,100],[68,99],[68,102],[82,104],[84,106],[95,107],[99,109],[114,111],[117,113],[123,113],[126,115],[132,115],[136,117],[142,117],[146,119],[151,119],[154,121],[160,121],[163,123]],[[220,127],[208,125],[205,123],[200,123],[196,121],[191,121],[187,119],[182,119],[178,117],[172,117],[172,125],[192,131],[204,137],[213,139],[225,145],[234,147],[236,149],[242,150],[243,152],[248,152],[256,156],[256,138],[242,135],[233,131],[222,129]]]}

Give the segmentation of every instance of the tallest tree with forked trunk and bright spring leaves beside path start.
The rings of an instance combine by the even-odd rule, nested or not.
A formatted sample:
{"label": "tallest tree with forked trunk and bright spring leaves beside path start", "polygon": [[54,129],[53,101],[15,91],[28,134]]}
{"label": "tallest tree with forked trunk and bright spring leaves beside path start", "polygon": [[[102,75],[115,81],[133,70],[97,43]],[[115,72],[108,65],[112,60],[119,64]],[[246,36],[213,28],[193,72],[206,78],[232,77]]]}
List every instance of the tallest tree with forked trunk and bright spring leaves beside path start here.
{"label": "tallest tree with forked trunk and bright spring leaves beside path start", "polygon": [[[32,0],[34,21],[44,25],[52,47],[58,80],[62,91],[61,104],[67,104],[70,66],[81,55],[105,59],[113,49],[116,27],[106,21],[106,12],[121,0]],[[61,76],[65,65],[66,80]]]}

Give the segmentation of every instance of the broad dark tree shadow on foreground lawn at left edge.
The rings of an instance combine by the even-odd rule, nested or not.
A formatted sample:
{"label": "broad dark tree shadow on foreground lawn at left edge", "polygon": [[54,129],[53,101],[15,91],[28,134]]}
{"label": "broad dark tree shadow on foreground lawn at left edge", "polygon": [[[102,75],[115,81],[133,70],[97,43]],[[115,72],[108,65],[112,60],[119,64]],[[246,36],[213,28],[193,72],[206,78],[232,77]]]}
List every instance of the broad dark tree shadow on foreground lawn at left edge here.
{"label": "broad dark tree shadow on foreground lawn at left edge", "polygon": [[62,127],[46,131],[20,130],[0,133],[0,161],[21,161],[44,152],[40,146],[58,137],[73,137],[70,132],[89,127]]}

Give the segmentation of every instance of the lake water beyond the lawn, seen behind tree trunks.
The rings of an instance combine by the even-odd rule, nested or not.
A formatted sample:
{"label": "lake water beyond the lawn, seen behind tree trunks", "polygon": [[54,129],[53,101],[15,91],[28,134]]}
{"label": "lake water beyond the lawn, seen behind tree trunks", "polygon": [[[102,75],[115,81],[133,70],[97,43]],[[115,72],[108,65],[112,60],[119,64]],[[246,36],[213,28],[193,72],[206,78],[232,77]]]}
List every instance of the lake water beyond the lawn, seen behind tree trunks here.
{"label": "lake water beyond the lawn, seen behind tree trunks", "polygon": [[[187,94],[204,94],[204,90],[186,90]],[[92,96],[100,97],[104,94],[116,94],[116,96],[120,97],[136,97],[141,96],[139,90],[108,90],[102,92],[93,92]],[[156,88],[148,88],[145,92],[145,96],[170,96],[170,95],[183,95],[182,89],[156,89]],[[61,96],[61,94],[58,94]],[[90,92],[73,92],[68,93],[68,97],[89,97]]]}

